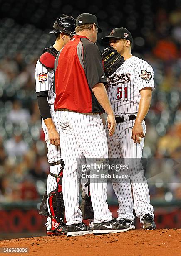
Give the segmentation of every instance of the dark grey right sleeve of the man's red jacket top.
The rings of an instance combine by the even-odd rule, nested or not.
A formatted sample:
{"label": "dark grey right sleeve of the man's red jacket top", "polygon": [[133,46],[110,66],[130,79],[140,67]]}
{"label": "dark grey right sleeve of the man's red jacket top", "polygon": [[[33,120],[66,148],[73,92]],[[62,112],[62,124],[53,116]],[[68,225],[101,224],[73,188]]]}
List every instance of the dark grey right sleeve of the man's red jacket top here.
{"label": "dark grey right sleeve of the man's red jacket top", "polygon": [[89,87],[92,89],[97,83],[107,84],[104,74],[102,54],[96,44],[83,44],[84,68]]}

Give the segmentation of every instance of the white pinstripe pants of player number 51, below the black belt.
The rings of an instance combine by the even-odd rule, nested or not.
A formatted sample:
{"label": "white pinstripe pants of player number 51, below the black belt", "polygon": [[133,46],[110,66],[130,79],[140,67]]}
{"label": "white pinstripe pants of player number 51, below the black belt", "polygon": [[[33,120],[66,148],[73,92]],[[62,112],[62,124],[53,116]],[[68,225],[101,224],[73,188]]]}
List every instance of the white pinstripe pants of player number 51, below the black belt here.
{"label": "white pinstripe pants of player number 51, below the black belt", "polygon": [[[121,164],[126,164],[127,162],[129,163],[129,170],[126,171],[124,169],[121,171],[121,174],[126,175],[127,173],[129,175],[127,180],[114,179],[113,181],[113,189],[119,202],[118,220],[134,220],[134,209],[136,216],[140,218],[140,222],[142,222],[141,218],[145,214],[149,213],[152,216],[154,216],[154,214],[153,206],[150,204],[148,184],[144,177],[142,166],[140,168],[140,159],[142,157],[142,150],[144,147],[144,138],[142,138],[140,144],[135,144],[133,139],[131,139],[134,122],[135,120],[127,120],[123,123],[117,123],[114,135],[110,138],[108,136],[107,129],[106,135],[108,141],[109,158],[122,159]],[[146,125],[144,121],[142,125],[145,134]]]}

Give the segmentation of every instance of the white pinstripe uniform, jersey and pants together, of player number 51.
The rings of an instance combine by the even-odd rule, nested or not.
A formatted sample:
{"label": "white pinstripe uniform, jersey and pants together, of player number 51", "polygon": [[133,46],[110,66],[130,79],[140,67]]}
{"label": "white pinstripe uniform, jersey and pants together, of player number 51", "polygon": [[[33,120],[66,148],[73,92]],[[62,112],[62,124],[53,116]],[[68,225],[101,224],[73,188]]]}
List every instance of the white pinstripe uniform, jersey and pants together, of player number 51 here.
{"label": "white pinstripe uniform, jersey and pants together, of player number 51", "polygon": [[[108,77],[108,95],[114,115],[124,117],[124,122],[117,123],[115,133],[111,138],[106,131],[109,158],[122,158],[125,163],[126,159],[141,159],[144,138],[140,144],[135,144],[131,139],[135,120],[129,120],[129,115],[135,114],[136,116],[138,113],[141,98],[139,91],[144,87],[152,87],[154,90],[153,77],[152,67],[146,61],[135,56],[126,59],[122,67]],[[145,134],[144,121],[142,126]],[[133,171],[134,167],[131,167],[129,166]],[[124,170],[124,174],[126,174],[126,170]],[[150,204],[148,184],[143,180],[144,172],[141,166],[141,171],[130,177],[131,184],[129,181],[124,182],[124,180],[113,181],[114,192],[119,201],[118,220],[134,220],[133,209],[140,221],[147,213],[154,216],[153,206]]]}

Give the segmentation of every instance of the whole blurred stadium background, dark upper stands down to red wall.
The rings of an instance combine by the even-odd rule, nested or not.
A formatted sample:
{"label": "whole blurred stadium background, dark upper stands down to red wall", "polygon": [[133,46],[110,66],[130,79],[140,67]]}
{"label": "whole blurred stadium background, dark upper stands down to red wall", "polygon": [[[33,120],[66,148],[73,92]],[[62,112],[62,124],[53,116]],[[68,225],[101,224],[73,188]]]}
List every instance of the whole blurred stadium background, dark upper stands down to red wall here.
{"label": "whole blurred stadium background, dark upper stands down to red wall", "polygon": [[[181,0],[0,0],[0,237],[45,234],[38,207],[49,172],[47,147],[35,95],[35,64],[52,45],[54,20],[61,14],[92,13],[103,33],[126,27],[133,55],[154,68],[156,90],[146,117],[144,158],[181,155]],[[181,228],[181,167],[149,184],[158,228]],[[116,214],[111,185],[109,205]],[[137,227],[141,225],[137,223]],[[24,235],[22,233],[26,232]],[[19,233],[19,235],[17,234]]]}

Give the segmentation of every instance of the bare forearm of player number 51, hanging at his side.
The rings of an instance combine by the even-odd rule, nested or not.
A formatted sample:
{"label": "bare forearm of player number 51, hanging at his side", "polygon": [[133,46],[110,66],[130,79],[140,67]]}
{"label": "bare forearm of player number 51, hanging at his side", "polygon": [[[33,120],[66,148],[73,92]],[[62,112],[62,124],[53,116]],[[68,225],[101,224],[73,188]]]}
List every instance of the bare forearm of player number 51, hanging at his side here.
{"label": "bare forearm of player number 51, hanging at his side", "polygon": [[136,116],[135,122],[142,123],[146,114],[149,111],[151,104],[151,95],[142,96],[139,102],[138,114]]}

